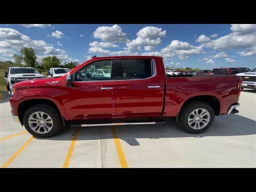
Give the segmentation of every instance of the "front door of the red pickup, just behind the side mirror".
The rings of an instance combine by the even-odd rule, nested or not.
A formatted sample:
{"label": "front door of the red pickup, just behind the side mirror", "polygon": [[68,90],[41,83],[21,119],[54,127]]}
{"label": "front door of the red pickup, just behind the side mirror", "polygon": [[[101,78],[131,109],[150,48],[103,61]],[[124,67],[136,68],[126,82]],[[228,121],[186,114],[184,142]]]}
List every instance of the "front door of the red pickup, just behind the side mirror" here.
{"label": "front door of the red pickup, just behind the side mirror", "polygon": [[[96,76],[97,69],[111,70],[110,77]],[[75,74],[73,87],[64,88],[62,99],[69,118],[116,115],[116,60],[92,62]]]}

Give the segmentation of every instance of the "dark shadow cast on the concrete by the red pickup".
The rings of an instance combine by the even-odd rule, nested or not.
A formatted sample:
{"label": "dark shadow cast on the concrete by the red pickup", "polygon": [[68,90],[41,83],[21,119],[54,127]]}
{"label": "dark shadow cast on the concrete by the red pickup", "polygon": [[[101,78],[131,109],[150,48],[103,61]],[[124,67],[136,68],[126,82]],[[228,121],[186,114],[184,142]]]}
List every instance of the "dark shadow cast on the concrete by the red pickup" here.
{"label": "dark shadow cast on the concrete by the red pickup", "polygon": [[[216,116],[212,127],[201,134],[190,134],[177,126],[177,123],[167,119],[165,124],[155,125],[123,125],[123,126],[95,126],[80,128],[77,140],[113,139],[112,127],[118,133],[120,140],[130,146],[138,146],[137,139],[149,138],[203,138],[214,136],[243,136],[256,134],[256,121],[233,114],[229,116]],[[44,140],[72,140],[76,128],[68,127],[58,135]],[[39,138],[38,138],[39,139]]]}

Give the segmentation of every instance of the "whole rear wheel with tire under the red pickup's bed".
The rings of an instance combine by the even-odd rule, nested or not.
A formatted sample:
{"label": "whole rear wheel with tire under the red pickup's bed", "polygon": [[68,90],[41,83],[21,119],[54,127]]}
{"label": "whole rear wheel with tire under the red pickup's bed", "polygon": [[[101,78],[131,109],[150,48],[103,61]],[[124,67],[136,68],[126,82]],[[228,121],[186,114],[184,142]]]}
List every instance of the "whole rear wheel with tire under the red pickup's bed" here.
{"label": "whole rear wheel with tire under the red pickup's bed", "polygon": [[212,126],[214,110],[205,102],[194,101],[182,108],[178,121],[187,132],[202,133]]}

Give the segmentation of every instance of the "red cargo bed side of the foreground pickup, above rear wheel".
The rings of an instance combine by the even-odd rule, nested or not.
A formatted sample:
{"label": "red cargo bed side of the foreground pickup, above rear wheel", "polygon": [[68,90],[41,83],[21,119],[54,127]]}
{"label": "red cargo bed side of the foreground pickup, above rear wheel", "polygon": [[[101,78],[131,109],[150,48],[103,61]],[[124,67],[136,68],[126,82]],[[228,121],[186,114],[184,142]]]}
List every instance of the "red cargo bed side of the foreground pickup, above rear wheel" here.
{"label": "red cargo bed side of the foreground pickup, above rear wheel", "polygon": [[185,101],[194,97],[219,101],[219,114],[226,114],[231,104],[238,102],[238,76],[180,75],[166,77],[164,116],[176,116]]}

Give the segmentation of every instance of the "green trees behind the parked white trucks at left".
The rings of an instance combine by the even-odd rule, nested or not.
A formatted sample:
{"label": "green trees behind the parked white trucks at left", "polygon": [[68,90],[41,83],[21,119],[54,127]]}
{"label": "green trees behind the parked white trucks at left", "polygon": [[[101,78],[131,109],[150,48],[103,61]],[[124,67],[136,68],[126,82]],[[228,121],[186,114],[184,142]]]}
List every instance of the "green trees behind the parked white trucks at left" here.
{"label": "green trees behind the parked white trucks at left", "polygon": [[[64,63],[60,65],[60,60],[56,56],[48,56],[42,59],[42,63],[36,61],[37,57],[34,49],[31,47],[25,47],[20,49],[20,55],[14,54],[13,64],[16,66],[26,66],[36,68],[38,71],[45,72],[50,70],[50,68],[63,67],[63,68],[75,68],[79,65],[77,61],[72,61],[69,63]],[[24,64],[22,64],[24,62]]]}

